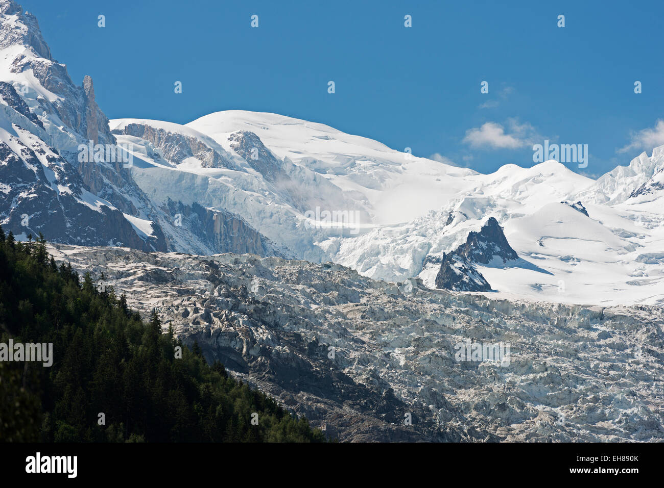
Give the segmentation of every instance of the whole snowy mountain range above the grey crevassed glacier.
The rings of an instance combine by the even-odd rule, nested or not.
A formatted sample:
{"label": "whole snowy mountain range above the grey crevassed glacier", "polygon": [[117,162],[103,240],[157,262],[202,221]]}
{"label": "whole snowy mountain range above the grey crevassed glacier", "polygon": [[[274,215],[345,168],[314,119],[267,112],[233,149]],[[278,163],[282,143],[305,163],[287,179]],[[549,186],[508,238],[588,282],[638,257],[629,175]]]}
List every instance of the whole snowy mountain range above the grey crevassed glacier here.
{"label": "whole snowy mountain range above the grey crevassed glacier", "polygon": [[[492,296],[664,302],[664,147],[593,180],[552,160],[479,174],[273,113],[108,121],[32,15],[11,0],[0,15],[0,223],[19,237],[333,261],[436,288],[495,219],[519,259],[464,265]],[[117,157],[82,158],[89,145]]]}

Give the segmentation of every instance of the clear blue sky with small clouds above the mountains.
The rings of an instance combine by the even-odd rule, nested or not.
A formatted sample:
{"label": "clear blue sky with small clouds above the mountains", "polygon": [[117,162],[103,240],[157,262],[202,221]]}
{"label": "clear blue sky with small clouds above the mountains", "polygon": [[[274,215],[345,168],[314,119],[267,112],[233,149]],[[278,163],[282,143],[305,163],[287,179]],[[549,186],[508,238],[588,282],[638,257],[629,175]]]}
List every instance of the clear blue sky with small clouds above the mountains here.
{"label": "clear blue sky with small clouds above the mountains", "polygon": [[661,1],[19,3],[111,119],[268,111],[481,172],[544,139],[587,144],[589,175],[664,144]]}

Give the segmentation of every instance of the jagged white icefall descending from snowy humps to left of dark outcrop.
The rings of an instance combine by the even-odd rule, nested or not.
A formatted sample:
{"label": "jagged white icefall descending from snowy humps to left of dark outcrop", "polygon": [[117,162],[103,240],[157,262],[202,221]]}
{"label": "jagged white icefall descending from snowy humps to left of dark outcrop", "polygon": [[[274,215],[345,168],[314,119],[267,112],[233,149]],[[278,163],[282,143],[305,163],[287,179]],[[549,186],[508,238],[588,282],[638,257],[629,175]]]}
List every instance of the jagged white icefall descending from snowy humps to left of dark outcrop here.
{"label": "jagged white icefall descending from snowy humps to left of dark outcrop", "polygon": [[[335,261],[374,278],[408,278],[420,274],[424,264],[421,276],[433,286],[438,267],[434,271],[426,261],[438,262],[442,253],[456,249],[488,217],[502,225],[508,219],[532,214],[544,204],[568,200],[593,182],[554,161],[532,168],[509,164],[493,174],[472,174],[463,180],[465,186],[457,185],[456,180],[449,182],[456,194],[442,211],[350,240],[333,238],[325,245],[337,250]],[[398,267],[390,263],[398,263]]]}

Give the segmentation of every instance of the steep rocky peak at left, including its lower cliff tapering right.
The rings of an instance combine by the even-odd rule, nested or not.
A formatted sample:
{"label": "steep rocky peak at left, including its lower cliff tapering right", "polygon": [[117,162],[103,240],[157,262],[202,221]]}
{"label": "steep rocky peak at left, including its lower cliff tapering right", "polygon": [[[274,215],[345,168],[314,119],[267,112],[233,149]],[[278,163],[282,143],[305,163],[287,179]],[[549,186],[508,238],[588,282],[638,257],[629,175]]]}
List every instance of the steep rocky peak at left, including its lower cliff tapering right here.
{"label": "steep rocky peak at left, including its lower cliff tapering right", "polygon": [[0,99],[0,221],[19,239],[41,232],[145,251],[285,255],[223,208],[153,205],[127,170],[133,161],[110,133],[92,79],[74,85],[37,19],[11,0],[0,0]]}

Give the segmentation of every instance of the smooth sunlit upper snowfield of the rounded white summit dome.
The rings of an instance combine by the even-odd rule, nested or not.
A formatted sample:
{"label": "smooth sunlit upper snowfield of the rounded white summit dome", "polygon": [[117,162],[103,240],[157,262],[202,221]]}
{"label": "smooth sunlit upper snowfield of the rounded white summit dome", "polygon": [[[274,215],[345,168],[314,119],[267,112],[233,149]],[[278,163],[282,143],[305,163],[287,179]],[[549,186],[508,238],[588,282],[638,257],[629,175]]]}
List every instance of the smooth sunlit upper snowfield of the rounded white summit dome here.
{"label": "smooth sunlit upper snowfield of the rounded white summit dome", "polygon": [[278,158],[305,166],[351,194],[357,202],[353,210],[367,210],[374,225],[410,221],[441,208],[459,188],[471,188],[463,177],[475,174],[327,125],[274,113],[229,110],[201,117],[187,127],[210,135],[229,150],[231,133],[255,133]]}

